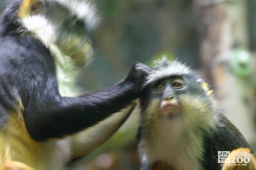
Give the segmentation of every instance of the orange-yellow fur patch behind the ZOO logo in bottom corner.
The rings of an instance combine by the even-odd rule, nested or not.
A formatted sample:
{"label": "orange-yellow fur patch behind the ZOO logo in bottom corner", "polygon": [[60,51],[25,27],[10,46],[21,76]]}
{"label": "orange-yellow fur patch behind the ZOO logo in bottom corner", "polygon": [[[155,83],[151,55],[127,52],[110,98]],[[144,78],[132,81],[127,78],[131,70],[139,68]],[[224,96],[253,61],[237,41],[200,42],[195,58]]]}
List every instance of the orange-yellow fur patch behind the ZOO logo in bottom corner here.
{"label": "orange-yellow fur patch behind the ZOO logo in bottom corner", "polygon": [[[242,154],[239,154],[242,153]],[[244,154],[246,153],[246,154]],[[239,154],[239,156],[237,156]],[[240,158],[242,162],[237,162],[237,158]],[[236,159],[235,159],[236,158]],[[245,158],[247,160],[245,161]],[[249,158],[249,159],[248,159]],[[238,148],[234,149],[229,157],[226,159],[229,159],[230,163],[224,163],[224,166],[221,170],[256,170],[256,159],[253,153],[251,153],[251,150],[249,148]],[[232,163],[232,160],[235,159],[236,163]],[[248,162],[249,161],[249,162]],[[246,163],[247,162],[247,163]]]}

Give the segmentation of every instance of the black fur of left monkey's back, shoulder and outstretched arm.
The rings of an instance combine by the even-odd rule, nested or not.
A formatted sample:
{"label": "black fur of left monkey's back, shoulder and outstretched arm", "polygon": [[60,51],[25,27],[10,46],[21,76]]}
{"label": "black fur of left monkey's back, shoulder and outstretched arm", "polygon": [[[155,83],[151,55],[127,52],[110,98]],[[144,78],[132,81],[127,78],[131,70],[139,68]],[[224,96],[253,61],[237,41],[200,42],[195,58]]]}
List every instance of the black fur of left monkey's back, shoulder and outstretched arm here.
{"label": "black fur of left monkey's back, shoulder and outstretched arm", "polygon": [[[21,2],[19,0],[19,2]],[[77,133],[119,111],[138,98],[143,71],[134,65],[121,83],[76,98],[61,97],[50,51],[22,32],[17,10],[9,5],[0,18],[0,126],[20,100],[32,138],[43,141]]]}

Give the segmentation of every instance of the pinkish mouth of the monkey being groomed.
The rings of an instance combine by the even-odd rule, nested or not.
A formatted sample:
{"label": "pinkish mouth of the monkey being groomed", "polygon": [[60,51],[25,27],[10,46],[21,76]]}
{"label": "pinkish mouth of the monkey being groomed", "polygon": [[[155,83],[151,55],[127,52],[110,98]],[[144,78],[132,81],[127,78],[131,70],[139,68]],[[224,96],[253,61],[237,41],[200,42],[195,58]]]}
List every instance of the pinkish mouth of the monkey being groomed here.
{"label": "pinkish mouth of the monkey being groomed", "polygon": [[176,102],[166,102],[160,107],[160,113],[168,117],[175,117],[180,111],[181,108]]}

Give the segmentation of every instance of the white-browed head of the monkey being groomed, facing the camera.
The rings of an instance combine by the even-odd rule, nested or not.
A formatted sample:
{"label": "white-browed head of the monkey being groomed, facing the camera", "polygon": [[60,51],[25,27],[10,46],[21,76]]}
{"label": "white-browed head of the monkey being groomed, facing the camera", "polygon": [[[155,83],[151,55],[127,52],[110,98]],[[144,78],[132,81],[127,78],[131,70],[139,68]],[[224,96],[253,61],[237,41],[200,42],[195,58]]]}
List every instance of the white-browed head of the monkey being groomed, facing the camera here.
{"label": "white-browed head of the monkey being groomed, facing the camera", "polygon": [[194,71],[169,62],[156,68],[142,89],[142,122],[148,127],[170,123],[201,126],[213,118],[217,103],[212,101],[207,84]]}

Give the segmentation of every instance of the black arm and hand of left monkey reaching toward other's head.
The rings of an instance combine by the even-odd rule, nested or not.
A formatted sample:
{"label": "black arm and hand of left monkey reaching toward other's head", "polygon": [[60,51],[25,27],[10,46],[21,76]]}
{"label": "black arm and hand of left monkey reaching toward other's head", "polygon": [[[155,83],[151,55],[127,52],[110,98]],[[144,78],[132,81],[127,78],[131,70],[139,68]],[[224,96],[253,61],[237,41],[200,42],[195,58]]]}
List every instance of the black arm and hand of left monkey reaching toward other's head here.
{"label": "black arm and hand of left monkey reaching toward other's head", "polygon": [[[131,104],[138,98],[147,68],[135,64],[128,77],[117,85],[70,98],[61,97],[55,78],[40,85],[24,113],[29,134],[36,140],[77,133]],[[51,83],[52,82],[52,83]]]}

